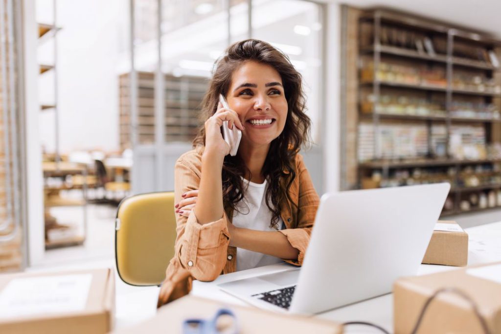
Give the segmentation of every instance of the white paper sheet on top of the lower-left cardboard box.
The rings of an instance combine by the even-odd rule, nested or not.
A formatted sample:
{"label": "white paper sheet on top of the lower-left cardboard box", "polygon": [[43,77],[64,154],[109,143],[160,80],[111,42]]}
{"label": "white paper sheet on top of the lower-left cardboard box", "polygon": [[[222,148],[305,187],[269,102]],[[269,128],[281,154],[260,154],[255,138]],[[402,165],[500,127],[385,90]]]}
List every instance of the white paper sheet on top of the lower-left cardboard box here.
{"label": "white paper sheet on top of the lower-left cardboard box", "polygon": [[0,318],[85,309],[92,274],[15,278],[0,292]]}

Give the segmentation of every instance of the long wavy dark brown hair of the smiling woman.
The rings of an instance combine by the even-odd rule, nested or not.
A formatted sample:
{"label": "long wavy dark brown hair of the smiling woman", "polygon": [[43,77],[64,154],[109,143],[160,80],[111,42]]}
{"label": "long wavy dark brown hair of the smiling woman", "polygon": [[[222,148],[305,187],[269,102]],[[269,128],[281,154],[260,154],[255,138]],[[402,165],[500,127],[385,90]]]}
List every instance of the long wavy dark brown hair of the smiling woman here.
{"label": "long wavy dark brown hair of the smiling woman", "polygon": [[[231,45],[224,56],[214,63],[209,89],[201,105],[201,120],[204,122],[217,110],[219,94],[226,96],[231,85],[233,72],[247,61],[256,61],[272,66],[282,77],[285,97],[288,103],[286,123],[282,133],[271,142],[262,174],[268,181],[266,205],[272,211],[270,226],[278,225],[280,203],[289,199],[297,205],[289,195],[289,187],[296,178],[294,171],[296,154],[300,148],[310,144],[311,120],[305,114],[305,94],[302,87],[302,76],[296,71],[287,55],[269,43],[259,40],[245,40]],[[205,128],[202,126],[193,140],[193,148],[204,146]],[[224,209],[237,211],[236,203],[243,199],[246,188],[242,178],[250,175],[241,157],[237,154],[224,158],[222,167],[222,190]],[[238,212],[238,211],[237,211]]]}

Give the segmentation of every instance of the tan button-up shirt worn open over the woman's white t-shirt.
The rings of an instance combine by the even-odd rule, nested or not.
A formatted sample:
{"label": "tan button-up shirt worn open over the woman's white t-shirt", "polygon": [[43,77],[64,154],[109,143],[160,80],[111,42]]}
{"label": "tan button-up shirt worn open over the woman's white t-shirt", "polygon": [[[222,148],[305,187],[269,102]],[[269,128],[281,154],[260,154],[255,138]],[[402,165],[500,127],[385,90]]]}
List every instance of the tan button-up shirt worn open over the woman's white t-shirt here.
{"label": "tan button-up shirt worn open over the woman's white t-shirt", "polygon": [[[191,150],[179,157],[174,170],[174,196],[179,203],[181,195],[196,190],[200,184],[201,151]],[[289,188],[293,202],[284,199],[281,216],[285,234],[291,245],[299,250],[297,260],[284,259],[294,265],[301,265],[305,256],[310,233],[319,205],[319,196],[306,169],[303,157],[296,155],[296,178]],[[177,237],[175,255],[170,260],[165,280],[160,289],[158,306],[187,294],[192,279],[214,280],[221,273],[236,269],[236,247],[229,246],[227,224],[231,223],[232,212],[225,208],[219,220],[199,224],[194,210],[188,217],[177,215]]]}

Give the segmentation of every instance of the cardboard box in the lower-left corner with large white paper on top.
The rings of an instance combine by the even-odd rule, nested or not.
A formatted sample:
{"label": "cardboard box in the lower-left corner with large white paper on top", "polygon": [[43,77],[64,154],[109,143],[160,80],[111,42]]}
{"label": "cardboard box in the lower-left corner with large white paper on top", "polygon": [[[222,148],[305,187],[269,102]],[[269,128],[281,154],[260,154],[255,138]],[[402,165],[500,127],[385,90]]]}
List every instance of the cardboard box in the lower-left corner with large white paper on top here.
{"label": "cardboard box in the lower-left corner with large white paper on top", "polygon": [[113,269],[0,275],[0,333],[107,333]]}

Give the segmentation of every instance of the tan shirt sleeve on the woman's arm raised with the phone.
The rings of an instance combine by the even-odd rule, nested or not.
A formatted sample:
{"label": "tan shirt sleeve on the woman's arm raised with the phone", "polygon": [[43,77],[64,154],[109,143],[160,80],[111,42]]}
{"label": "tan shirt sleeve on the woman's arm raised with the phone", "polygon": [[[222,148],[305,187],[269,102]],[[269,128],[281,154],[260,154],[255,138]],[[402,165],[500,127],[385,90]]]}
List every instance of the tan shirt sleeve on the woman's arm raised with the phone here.
{"label": "tan shirt sleeve on the woman's arm raised with the phone", "polygon": [[[198,189],[200,171],[189,161],[180,158],[176,162],[174,175],[175,202],[179,203],[186,191]],[[219,220],[203,225],[198,223],[195,210],[191,210],[188,217],[177,215],[176,220],[175,254],[181,266],[198,280],[217,278],[226,263],[229,244],[226,214]]]}

